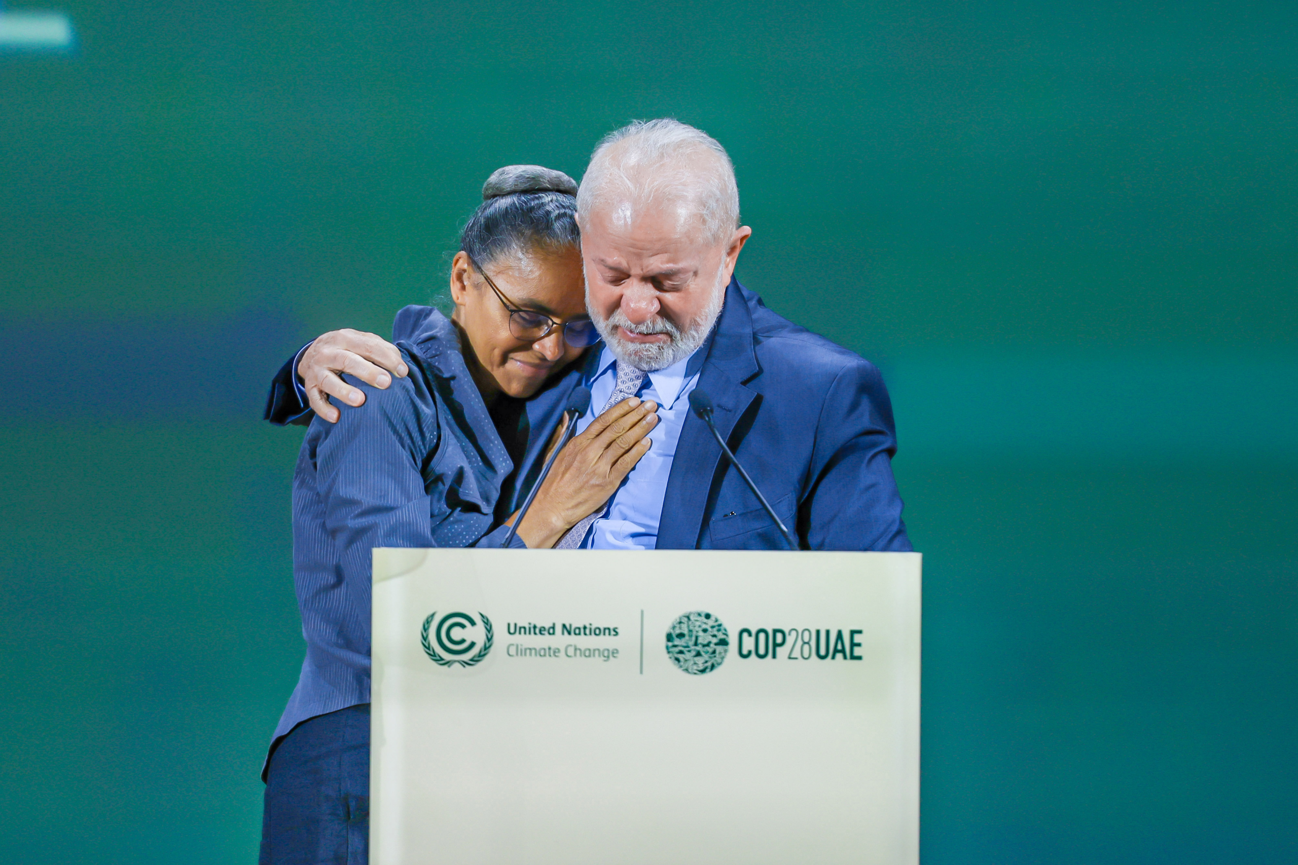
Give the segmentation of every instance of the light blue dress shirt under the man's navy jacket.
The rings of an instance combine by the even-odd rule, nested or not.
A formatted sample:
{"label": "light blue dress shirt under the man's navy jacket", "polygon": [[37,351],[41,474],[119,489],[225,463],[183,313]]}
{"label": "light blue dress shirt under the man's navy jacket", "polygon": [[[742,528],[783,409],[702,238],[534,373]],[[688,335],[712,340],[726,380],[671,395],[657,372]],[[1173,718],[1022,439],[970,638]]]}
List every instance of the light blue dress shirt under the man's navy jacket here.
{"label": "light blue dress shirt under the man's navy jacket", "polygon": [[[689,392],[698,384],[698,371],[706,354],[707,342],[704,342],[684,361],[645,376],[636,396],[658,403],[658,424],[649,431],[653,445],[613,494],[609,511],[591,524],[582,541],[583,550],[653,550],[658,543],[658,523],[662,519],[662,501],[667,494],[671,460],[676,455],[676,441],[685,418],[689,416]],[[604,346],[594,372],[584,380],[591,388],[591,407],[576,421],[578,433],[591,425],[598,410],[613,396],[618,380],[615,364],[613,351]]]}

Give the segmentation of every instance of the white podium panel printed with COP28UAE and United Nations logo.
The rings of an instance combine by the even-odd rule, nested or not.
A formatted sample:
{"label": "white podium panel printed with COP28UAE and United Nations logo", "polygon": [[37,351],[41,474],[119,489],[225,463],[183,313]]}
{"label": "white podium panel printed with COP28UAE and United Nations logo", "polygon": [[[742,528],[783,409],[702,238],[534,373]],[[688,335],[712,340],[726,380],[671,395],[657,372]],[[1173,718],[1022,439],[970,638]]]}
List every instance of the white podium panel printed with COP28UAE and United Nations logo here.
{"label": "white podium panel printed with COP28UAE and United Nations logo", "polygon": [[919,861],[914,552],[375,550],[370,861]]}

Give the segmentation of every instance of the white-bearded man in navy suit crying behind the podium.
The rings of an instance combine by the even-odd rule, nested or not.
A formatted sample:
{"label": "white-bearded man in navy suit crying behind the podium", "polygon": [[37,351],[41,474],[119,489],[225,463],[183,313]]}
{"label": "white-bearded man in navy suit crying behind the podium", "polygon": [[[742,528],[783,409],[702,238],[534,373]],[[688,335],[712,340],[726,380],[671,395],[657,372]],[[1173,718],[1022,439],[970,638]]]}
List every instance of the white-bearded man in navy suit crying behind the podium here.
{"label": "white-bearded man in navy suit crying behind the podium", "polygon": [[[604,345],[527,403],[519,479],[502,492],[498,512],[526,494],[553,419],[580,383],[592,401],[579,429],[627,396],[657,402],[659,423],[649,454],[607,506],[559,547],[783,549],[776,527],[691,412],[697,388],[711,397],[718,431],[800,547],[910,550],[883,379],[733,279],[752,228],[740,224],[735,170],[720,144],[671,119],[610,134],[582,180],[578,220],[587,307]],[[326,335],[276,376],[267,418],[292,420],[309,402],[332,419],[327,396],[363,401],[337,371],[386,386],[384,370],[404,375],[378,337]]]}

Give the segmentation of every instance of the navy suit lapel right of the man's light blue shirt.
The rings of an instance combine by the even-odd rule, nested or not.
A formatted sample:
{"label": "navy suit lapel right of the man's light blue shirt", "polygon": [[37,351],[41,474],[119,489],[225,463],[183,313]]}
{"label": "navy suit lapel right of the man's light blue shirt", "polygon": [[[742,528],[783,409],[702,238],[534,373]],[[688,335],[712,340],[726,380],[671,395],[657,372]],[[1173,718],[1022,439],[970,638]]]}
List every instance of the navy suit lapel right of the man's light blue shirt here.
{"label": "navy suit lapel right of the man's light blue shirt", "polygon": [[[739,281],[726,288],[726,306],[713,336],[696,388],[713,398],[713,420],[726,444],[735,424],[744,416],[757,393],[744,383],[761,371],[753,346],[753,316]],[[659,550],[693,550],[704,527],[707,494],[716,476],[722,449],[707,424],[693,412],[685,419],[676,441],[667,493],[658,521]]]}

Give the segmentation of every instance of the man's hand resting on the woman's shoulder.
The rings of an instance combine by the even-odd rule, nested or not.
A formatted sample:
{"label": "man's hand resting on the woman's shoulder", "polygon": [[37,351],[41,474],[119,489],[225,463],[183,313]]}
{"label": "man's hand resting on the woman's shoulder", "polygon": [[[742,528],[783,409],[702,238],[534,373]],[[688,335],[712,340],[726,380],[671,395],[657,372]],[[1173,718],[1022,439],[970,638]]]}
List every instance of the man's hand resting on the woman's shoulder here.
{"label": "man's hand resting on the woman's shoulder", "polygon": [[297,362],[297,375],[306,388],[306,399],[312,403],[312,409],[330,423],[337,421],[337,409],[330,405],[330,396],[349,406],[365,402],[365,394],[360,388],[343,381],[344,372],[382,390],[392,383],[389,372],[404,379],[409,370],[397,346],[382,336],[343,329],[317,337],[302,351],[302,359]]}

